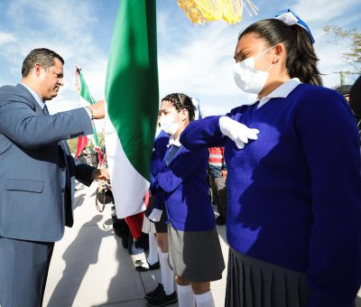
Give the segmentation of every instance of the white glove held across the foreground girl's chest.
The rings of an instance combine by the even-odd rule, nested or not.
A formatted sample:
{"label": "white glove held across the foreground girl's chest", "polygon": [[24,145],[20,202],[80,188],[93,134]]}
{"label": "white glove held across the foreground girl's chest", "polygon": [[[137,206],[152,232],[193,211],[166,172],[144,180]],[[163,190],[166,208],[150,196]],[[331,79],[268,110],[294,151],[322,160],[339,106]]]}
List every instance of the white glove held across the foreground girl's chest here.
{"label": "white glove held across the foreground girl's chest", "polygon": [[259,130],[251,129],[228,117],[219,117],[219,128],[223,135],[228,136],[236,143],[238,149],[243,149],[249,140],[256,140]]}

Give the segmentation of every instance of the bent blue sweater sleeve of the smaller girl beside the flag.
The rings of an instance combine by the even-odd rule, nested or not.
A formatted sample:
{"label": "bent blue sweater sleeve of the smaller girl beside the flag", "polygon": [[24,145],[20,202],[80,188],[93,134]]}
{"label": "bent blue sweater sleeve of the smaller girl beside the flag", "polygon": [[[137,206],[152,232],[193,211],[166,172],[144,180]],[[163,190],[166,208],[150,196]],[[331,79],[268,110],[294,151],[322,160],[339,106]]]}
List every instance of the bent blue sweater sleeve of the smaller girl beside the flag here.
{"label": "bent blue sweater sleeve of the smaller girl beside the flag", "polygon": [[203,162],[206,150],[186,151],[178,154],[171,163],[157,174],[159,186],[165,192],[172,192],[178,188],[182,181],[186,180],[192,173],[196,172]]}

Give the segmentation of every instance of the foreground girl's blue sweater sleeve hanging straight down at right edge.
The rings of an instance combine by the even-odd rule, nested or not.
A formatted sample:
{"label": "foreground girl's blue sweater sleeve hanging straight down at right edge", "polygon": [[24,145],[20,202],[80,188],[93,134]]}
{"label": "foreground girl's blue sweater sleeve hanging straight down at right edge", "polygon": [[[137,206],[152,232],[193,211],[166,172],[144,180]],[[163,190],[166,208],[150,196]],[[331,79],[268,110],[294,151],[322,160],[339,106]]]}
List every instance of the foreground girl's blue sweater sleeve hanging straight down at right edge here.
{"label": "foreground girl's blue sweater sleeve hanging straight down at right edge", "polygon": [[[296,122],[310,168],[313,226],[308,307],[353,306],[360,286],[361,179],[355,120],[334,91],[307,99]],[[312,109],[310,112],[310,101]]]}

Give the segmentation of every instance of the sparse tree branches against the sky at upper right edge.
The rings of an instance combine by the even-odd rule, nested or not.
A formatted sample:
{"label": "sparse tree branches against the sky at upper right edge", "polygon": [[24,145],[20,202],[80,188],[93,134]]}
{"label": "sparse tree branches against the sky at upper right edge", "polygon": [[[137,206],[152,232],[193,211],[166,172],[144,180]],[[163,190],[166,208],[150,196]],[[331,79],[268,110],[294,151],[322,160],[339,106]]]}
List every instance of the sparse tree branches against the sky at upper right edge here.
{"label": "sparse tree branches against the sky at upper right edge", "polygon": [[323,30],[348,41],[349,51],[344,53],[344,57],[354,66],[355,70],[347,71],[347,73],[361,73],[361,33],[356,29],[344,30],[338,25],[327,25]]}

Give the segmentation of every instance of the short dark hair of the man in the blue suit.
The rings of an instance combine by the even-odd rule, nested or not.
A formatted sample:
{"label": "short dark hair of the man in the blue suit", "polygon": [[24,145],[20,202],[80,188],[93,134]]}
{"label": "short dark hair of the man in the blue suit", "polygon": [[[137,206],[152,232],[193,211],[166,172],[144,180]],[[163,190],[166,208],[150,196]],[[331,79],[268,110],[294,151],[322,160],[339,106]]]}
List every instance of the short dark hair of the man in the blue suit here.
{"label": "short dark hair of the man in the blue suit", "polygon": [[55,64],[55,58],[60,60],[60,62],[64,65],[64,60],[54,51],[46,48],[38,48],[30,51],[23,60],[22,76],[26,77],[37,63],[41,64],[44,70],[48,70]]}

